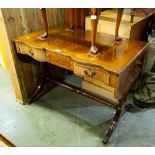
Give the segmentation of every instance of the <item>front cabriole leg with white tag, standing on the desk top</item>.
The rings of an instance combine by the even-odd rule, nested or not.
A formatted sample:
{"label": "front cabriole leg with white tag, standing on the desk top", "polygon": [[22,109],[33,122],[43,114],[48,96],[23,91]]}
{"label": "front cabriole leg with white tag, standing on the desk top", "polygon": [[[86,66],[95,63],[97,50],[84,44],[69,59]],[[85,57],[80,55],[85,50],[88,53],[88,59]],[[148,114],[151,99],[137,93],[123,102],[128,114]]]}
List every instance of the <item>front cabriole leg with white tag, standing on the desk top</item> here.
{"label": "front cabriole leg with white tag, standing on the desk top", "polygon": [[97,24],[98,24],[98,19],[97,19],[97,9],[92,8],[91,9],[91,27],[92,27],[92,39],[91,39],[91,48],[90,52],[92,55],[97,54],[97,47],[95,45],[96,42],[96,32],[97,32]]}

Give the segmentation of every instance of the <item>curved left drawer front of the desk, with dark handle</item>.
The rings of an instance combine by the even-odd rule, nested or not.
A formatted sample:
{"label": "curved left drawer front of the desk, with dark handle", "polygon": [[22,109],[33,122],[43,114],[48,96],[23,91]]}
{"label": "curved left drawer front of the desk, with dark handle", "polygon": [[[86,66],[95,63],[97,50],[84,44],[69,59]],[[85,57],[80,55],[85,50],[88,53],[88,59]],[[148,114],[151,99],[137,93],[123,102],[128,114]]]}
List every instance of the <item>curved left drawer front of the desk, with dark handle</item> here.
{"label": "curved left drawer front of the desk, with dark handle", "polygon": [[29,55],[38,61],[41,61],[41,62],[46,61],[45,50],[35,49],[30,46],[27,46],[26,44],[21,44],[21,43],[18,45],[17,50],[19,50],[18,51],[19,53]]}

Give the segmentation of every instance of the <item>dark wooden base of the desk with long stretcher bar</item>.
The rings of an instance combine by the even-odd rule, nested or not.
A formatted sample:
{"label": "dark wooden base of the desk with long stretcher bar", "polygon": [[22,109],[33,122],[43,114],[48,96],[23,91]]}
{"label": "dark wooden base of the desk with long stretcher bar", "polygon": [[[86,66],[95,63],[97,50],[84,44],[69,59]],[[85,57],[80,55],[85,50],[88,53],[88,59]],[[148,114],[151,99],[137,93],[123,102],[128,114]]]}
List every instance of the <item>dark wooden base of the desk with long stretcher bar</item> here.
{"label": "dark wooden base of the desk with long stretcher bar", "polygon": [[86,96],[92,100],[95,100],[97,102],[100,102],[108,107],[111,107],[113,109],[115,109],[115,114],[114,117],[111,121],[111,124],[109,126],[109,128],[107,129],[106,133],[103,136],[103,143],[107,144],[107,142],[109,141],[110,137],[112,136],[117,124],[119,123],[119,120],[121,118],[121,116],[124,114],[124,112],[126,110],[129,110],[131,108],[132,104],[127,104],[126,103],[126,96],[124,96],[122,99],[120,99],[118,102],[118,105],[113,104],[112,102],[106,101],[103,98],[101,99],[100,97],[97,97],[95,95],[92,95],[91,93],[89,93],[88,91],[85,91],[82,88],[78,88],[74,85],[65,83],[63,81],[60,80],[55,80],[52,79],[51,77],[48,76],[47,73],[45,73],[44,71],[44,64],[43,62],[40,62],[40,69],[41,69],[41,76],[37,85],[36,90],[34,91],[34,93],[32,94],[32,96],[28,99],[28,104],[33,103],[35,100],[37,100],[39,97],[41,97],[43,94],[45,94],[46,92],[48,92],[50,90],[50,88],[48,87],[47,89],[43,90],[43,87],[45,84],[50,84],[50,83],[55,83],[58,85],[61,85],[63,87],[65,87],[66,89],[69,89],[71,91],[74,91],[78,94],[81,94],[83,96]]}

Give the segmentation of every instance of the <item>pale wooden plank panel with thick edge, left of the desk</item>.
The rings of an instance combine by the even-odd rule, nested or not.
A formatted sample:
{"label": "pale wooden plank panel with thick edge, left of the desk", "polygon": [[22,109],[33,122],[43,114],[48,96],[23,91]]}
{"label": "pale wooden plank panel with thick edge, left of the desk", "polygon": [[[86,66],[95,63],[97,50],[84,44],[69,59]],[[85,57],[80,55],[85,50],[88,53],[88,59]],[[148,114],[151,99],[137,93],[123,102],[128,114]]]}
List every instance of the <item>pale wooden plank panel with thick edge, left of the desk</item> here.
{"label": "pale wooden plank panel with thick edge, left of the desk", "polygon": [[[47,9],[49,26],[63,24],[63,9]],[[8,59],[16,99],[25,103],[30,97],[39,78],[38,62],[23,63],[17,59],[12,39],[37,31],[41,24],[39,9],[1,9],[0,25],[3,28],[3,44]]]}

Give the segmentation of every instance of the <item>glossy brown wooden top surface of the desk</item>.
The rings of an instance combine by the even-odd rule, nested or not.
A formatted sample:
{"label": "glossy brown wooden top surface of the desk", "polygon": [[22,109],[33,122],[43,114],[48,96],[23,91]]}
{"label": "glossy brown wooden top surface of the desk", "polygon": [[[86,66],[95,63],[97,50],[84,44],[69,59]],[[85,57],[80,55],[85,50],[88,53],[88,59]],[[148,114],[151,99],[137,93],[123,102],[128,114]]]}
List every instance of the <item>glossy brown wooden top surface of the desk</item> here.
{"label": "glossy brown wooden top surface of the desk", "polygon": [[75,62],[96,66],[119,74],[135,60],[148,43],[138,40],[123,39],[120,43],[114,37],[97,33],[97,47],[101,53],[97,57],[89,55],[91,32],[81,29],[66,31],[61,26],[49,29],[49,38],[39,40],[43,31],[33,32],[14,39],[15,42],[28,44],[37,49],[59,53]]}

